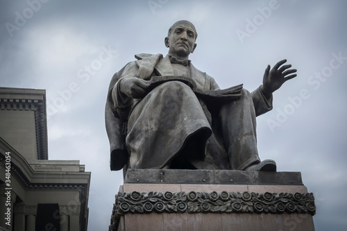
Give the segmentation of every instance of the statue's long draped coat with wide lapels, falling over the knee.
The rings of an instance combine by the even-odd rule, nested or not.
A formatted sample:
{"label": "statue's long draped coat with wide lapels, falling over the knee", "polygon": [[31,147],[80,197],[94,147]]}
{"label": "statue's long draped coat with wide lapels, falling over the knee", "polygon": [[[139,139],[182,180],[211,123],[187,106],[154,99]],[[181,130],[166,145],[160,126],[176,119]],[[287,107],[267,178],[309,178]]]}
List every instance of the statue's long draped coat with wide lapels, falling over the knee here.
{"label": "statue's long draped coat with wide lapels, falling over the knee", "polygon": [[[130,168],[161,168],[182,149],[187,138],[196,133],[201,133],[203,140],[203,155],[199,158],[206,160],[204,168],[232,168],[228,148],[223,147],[221,136],[214,134],[219,132],[212,126],[216,108],[198,99],[186,85],[163,84],[144,99],[120,96],[119,82],[123,78],[135,76],[150,80],[152,76],[174,76],[168,56],[139,54],[135,58],[138,60],[129,62],[113,76],[109,87],[105,124],[110,141],[111,170],[119,170],[126,164]],[[196,69],[192,63],[189,68],[198,89],[219,89],[214,78]],[[272,108],[272,96],[265,99],[259,88],[252,92],[251,99],[256,116]],[[209,146],[214,149],[213,155]]]}

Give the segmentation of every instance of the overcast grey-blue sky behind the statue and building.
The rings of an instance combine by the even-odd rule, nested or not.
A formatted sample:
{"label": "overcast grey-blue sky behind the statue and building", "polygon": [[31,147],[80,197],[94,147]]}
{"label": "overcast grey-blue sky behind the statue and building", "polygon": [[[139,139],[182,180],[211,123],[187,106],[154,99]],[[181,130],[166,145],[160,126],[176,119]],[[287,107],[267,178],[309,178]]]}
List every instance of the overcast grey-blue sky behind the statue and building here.
{"label": "overcast grey-blue sky behind the statue and building", "polygon": [[167,53],[164,37],[193,22],[189,58],[221,88],[262,83],[287,58],[298,77],[257,118],[260,158],[301,171],[316,230],[345,230],[346,1],[0,0],[0,86],[46,89],[49,159],[92,172],[89,230],[107,230],[121,171],[109,170],[104,106],[112,75],[136,53]]}

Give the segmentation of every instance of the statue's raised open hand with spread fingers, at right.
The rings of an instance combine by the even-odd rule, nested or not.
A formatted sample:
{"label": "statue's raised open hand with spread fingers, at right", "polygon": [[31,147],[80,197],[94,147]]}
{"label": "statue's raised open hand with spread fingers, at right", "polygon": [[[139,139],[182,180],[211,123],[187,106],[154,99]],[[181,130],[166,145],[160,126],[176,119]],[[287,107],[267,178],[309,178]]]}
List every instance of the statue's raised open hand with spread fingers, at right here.
{"label": "statue's raised open hand with spread fingers, at right", "polygon": [[[270,65],[265,69],[262,80],[262,92],[269,98],[273,92],[282,86],[287,80],[296,77],[296,69],[289,69],[291,65],[283,65],[287,60],[281,60],[270,70]],[[281,65],[283,65],[281,67]]]}

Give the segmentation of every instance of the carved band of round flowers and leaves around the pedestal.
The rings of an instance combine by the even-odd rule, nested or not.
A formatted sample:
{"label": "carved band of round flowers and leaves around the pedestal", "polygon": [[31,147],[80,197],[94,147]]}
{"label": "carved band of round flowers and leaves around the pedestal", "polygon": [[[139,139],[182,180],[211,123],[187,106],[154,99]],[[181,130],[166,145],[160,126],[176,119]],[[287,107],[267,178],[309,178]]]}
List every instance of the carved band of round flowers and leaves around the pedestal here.
{"label": "carved band of round flowers and leaves around the pedestal", "polygon": [[128,213],[308,213],[314,215],[316,206],[314,205],[313,194],[289,194],[289,193],[269,193],[264,194],[249,193],[245,191],[228,192],[216,191],[211,193],[190,191],[183,192],[149,192],[139,193],[119,192],[116,195],[115,212],[117,214]]}

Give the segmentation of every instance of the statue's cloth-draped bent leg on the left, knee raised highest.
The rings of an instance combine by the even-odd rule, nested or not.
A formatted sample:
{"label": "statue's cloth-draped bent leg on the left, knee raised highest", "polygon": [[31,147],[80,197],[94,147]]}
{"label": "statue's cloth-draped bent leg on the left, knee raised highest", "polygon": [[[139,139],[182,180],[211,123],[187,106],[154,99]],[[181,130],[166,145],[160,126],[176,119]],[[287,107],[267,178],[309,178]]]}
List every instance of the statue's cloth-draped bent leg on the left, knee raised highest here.
{"label": "statue's cloth-draped bent leg on the left, knee raised highest", "polygon": [[[167,167],[192,137],[203,138],[196,147],[203,151],[211,133],[208,119],[192,89],[178,81],[162,83],[130,113],[126,137],[131,151],[130,168]],[[202,159],[204,153],[198,154]]]}

